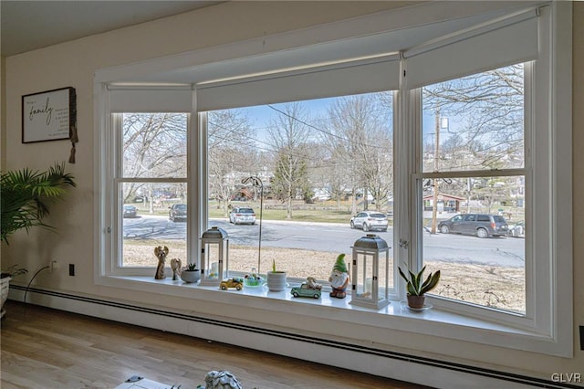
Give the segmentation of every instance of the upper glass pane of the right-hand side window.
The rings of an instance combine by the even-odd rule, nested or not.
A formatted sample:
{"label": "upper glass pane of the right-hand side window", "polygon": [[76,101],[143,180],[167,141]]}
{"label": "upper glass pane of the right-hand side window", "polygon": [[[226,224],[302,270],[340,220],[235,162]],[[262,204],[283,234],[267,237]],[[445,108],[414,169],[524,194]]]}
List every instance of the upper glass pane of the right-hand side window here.
{"label": "upper glass pane of the right-hand side window", "polygon": [[422,89],[422,170],[522,168],[524,66],[497,68]]}

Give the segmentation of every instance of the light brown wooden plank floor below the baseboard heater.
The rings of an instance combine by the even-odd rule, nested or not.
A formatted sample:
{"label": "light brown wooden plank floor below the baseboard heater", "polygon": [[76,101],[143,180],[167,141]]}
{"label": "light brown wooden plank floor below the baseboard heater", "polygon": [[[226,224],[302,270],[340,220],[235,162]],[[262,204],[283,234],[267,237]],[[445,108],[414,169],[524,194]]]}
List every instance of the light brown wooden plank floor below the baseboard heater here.
{"label": "light brown wooden plank floor below the baseboard heater", "polygon": [[245,389],[421,388],[265,352],[8,301],[2,389],[115,388],[132,375],[182,389],[229,370]]}

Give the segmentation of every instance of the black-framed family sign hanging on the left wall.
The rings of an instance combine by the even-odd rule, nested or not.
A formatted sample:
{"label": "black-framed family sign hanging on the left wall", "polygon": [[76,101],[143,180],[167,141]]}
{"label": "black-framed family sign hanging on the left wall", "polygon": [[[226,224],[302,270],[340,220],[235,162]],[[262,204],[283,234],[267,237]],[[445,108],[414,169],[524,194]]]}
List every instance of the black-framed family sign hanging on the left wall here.
{"label": "black-framed family sign hanging on the left wall", "polygon": [[22,97],[22,142],[72,139],[76,134],[75,88],[62,88]]}

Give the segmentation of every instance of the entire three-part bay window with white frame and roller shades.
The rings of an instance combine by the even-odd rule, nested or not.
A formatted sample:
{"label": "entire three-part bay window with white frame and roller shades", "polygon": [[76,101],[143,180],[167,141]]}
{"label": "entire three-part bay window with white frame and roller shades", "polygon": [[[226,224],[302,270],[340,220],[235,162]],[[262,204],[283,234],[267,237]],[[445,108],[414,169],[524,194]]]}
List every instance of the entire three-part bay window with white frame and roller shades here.
{"label": "entire three-part bay window with white frame and roller shades", "polygon": [[[192,68],[152,66],[154,84],[136,85],[131,67],[120,73],[128,83],[104,71],[98,281],[153,274],[154,246],[196,262],[203,231],[221,226],[230,271],[265,273],[286,249],[290,281],[326,282],[336,256],[365,233],[350,229],[350,216],[383,212],[391,300],[405,297],[398,265],[441,269],[435,310],[559,340],[550,352],[562,353],[571,335],[558,329],[571,333],[571,321],[557,312],[571,310],[558,288],[571,296],[560,282],[570,277],[571,230],[559,218],[571,220],[569,204],[560,206],[571,204],[571,185],[558,149],[570,137],[558,125],[568,98],[550,87],[565,81],[551,41],[557,6],[392,31],[378,20],[375,34],[312,44],[299,34],[296,46],[241,58],[225,59],[229,47],[203,50]],[[124,205],[137,215],[123,217]],[[172,205],[185,206],[185,221],[172,220]],[[298,249],[300,228],[325,236],[326,213],[318,226],[294,224],[317,206],[331,215],[347,207],[344,242]],[[255,220],[235,223],[235,208],[252,208]],[[474,229],[446,223],[460,221]],[[275,223],[286,232],[277,235]],[[379,313],[397,314],[393,306]],[[457,336],[451,330],[444,336]],[[526,344],[514,347],[538,347]]]}

